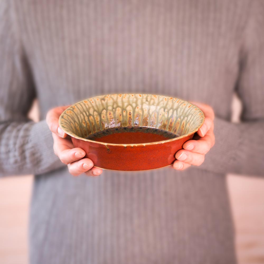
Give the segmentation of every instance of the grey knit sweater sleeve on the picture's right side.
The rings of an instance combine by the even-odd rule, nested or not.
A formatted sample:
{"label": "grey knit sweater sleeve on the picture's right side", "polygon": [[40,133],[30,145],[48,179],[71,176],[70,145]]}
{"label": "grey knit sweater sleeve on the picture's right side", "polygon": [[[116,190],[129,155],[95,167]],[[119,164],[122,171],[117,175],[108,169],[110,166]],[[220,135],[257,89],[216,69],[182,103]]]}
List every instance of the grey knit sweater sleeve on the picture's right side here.
{"label": "grey knit sweater sleeve on the picture's right side", "polygon": [[252,1],[243,32],[237,93],[241,123],[215,119],[215,146],[201,169],[220,173],[264,175],[264,2]]}

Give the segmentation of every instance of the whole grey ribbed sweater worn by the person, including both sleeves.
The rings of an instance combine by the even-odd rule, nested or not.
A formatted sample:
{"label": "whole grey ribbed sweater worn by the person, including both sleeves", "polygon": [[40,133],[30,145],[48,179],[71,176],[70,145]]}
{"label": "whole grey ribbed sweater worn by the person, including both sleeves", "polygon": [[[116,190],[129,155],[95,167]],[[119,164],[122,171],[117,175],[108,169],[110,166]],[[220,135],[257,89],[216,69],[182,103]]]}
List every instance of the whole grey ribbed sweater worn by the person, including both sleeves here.
{"label": "whole grey ribbed sweater worn by the person, including both sleeves", "polygon": [[[0,173],[35,174],[31,263],[235,263],[225,174],[263,174],[264,1],[2,0],[0,12]],[[210,104],[204,164],[69,175],[47,111],[115,92]]]}

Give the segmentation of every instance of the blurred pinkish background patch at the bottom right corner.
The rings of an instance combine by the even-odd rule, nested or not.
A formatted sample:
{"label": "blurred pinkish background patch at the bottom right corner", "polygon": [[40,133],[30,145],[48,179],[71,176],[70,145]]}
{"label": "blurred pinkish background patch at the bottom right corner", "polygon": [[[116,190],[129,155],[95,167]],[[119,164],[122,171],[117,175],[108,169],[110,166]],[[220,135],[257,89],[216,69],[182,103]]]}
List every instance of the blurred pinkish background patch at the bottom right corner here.
{"label": "blurred pinkish background patch at the bottom right corner", "polygon": [[239,263],[264,264],[264,177],[229,176]]}

